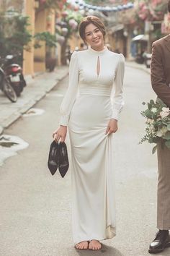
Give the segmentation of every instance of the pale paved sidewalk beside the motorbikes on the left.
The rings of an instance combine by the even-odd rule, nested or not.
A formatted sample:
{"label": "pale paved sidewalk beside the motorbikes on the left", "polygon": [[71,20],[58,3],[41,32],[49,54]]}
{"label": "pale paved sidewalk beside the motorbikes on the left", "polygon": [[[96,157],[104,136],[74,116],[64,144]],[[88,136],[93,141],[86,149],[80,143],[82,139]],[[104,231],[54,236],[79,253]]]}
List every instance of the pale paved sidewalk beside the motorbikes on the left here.
{"label": "pale paved sidewalk beside the motorbikes on the left", "polygon": [[0,92],[0,135],[5,128],[9,127],[22,114],[32,108],[37,101],[40,101],[67,74],[68,67],[63,66],[56,67],[55,72],[45,72],[37,75],[31,82],[27,83],[26,88],[24,88],[16,103],[9,101]]}

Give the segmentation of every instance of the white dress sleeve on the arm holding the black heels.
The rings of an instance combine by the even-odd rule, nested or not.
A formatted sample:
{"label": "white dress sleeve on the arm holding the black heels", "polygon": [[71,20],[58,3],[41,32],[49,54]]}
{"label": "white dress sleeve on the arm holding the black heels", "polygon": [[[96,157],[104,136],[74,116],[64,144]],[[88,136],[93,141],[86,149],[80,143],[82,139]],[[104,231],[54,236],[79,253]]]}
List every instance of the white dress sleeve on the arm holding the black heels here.
{"label": "white dress sleeve on the arm holding the black heels", "polygon": [[71,56],[71,61],[69,65],[69,83],[68,90],[66,91],[66,95],[63,98],[60,107],[60,124],[63,126],[68,125],[68,119],[71,113],[71,108],[73,107],[73,103],[76,100],[76,95],[78,92],[78,84],[79,84],[79,65],[78,65],[78,56],[77,52],[74,51]]}

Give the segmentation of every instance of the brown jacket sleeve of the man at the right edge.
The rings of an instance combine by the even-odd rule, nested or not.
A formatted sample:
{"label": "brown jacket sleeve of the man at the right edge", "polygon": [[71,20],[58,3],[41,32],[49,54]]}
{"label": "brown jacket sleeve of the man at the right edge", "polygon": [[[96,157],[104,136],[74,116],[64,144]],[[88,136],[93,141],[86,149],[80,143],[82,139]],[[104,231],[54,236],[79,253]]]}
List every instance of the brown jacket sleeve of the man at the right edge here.
{"label": "brown jacket sleeve of the man at the right edge", "polygon": [[158,98],[170,106],[170,88],[166,85],[166,77],[162,62],[161,46],[153,43],[151,59],[151,85]]}

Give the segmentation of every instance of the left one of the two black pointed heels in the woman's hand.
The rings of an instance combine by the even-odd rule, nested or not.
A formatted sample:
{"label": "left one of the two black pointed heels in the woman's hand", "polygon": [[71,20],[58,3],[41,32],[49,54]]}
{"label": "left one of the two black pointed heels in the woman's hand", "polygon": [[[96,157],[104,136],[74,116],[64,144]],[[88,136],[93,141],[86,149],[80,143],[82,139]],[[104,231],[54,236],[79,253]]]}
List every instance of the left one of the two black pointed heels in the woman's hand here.
{"label": "left one of the two black pointed heels in the woman's hand", "polygon": [[58,168],[58,142],[53,142],[50,145],[50,152],[48,155],[48,168],[52,175],[55,174]]}

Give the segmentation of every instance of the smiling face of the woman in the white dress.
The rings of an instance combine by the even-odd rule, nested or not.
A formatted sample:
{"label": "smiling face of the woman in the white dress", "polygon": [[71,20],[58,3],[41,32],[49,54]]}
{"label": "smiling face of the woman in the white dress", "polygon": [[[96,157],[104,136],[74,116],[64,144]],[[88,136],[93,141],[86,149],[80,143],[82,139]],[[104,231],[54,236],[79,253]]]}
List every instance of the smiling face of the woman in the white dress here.
{"label": "smiling face of the woman in the white dress", "polygon": [[99,28],[92,23],[85,28],[85,40],[94,50],[102,50],[104,47],[104,36]]}

